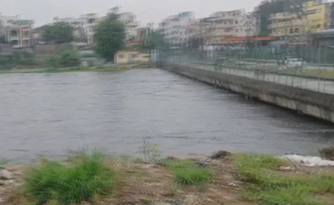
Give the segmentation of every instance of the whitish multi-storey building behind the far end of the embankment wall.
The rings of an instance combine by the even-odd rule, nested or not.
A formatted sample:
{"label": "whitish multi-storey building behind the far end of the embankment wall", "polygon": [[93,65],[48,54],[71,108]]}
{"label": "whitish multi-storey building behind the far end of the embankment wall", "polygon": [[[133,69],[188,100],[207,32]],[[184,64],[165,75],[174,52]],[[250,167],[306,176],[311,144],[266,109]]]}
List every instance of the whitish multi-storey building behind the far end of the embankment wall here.
{"label": "whitish multi-storey building behind the far end of the embankment wall", "polygon": [[194,12],[191,11],[168,16],[162,20],[158,29],[170,44],[181,46],[184,43],[188,43],[188,26],[194,20],[194,16]]}

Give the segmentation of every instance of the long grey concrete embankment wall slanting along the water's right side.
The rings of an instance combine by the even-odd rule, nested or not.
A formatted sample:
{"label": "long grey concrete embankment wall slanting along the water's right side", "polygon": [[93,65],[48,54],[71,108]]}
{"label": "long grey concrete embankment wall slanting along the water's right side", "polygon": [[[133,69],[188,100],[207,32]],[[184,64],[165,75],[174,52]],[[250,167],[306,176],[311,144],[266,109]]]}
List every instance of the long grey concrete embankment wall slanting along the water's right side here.
{"label": "long grey concrete embankment wall slanting along the water's right side", "polygon": [[158,63],[158,67],[269,104],[334,122],[334,95],[177,64]]}

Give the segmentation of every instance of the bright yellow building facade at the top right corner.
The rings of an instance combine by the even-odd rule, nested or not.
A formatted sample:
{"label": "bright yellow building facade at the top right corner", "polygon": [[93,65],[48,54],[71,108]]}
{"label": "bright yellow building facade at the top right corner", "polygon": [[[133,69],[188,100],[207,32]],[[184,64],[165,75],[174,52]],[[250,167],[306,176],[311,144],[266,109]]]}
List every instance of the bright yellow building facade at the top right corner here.
{"label": "bright yellow building facade at the top right corner", "polygon": [[322,31],[326,29],[326,9],[328,4],[317,4],[310,1],[304,3],[304,13],[307,14],[307,30]]}

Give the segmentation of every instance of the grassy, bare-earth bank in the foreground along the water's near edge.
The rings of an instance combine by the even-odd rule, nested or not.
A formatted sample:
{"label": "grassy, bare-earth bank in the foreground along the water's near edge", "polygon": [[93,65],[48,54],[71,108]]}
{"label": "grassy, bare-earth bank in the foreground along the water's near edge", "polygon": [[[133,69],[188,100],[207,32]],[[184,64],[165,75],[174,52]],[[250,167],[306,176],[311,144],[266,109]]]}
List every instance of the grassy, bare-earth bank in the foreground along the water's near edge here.
{"label": "grassy, bare-earth bank in the foreground along the water's near edge", "polygon": [[143,150],[144,159],[81,151],[66,163],[42,160],[20,168],[20,183],[7,189],[5,204],[327,205],[334,200],[331,168],[258,154],[160,159],[155,148]]}

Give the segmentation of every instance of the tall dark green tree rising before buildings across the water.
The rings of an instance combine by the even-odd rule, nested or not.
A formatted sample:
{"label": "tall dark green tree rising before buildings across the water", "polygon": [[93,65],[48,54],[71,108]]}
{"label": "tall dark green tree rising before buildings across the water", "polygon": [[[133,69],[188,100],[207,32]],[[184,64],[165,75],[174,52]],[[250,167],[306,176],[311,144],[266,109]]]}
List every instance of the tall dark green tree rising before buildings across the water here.
{"label": "tall dark green tree rising before buildings across the water", "polygon": [[109,60],[114,59],[114,54],[125,46],[125,28],[119,20],[118,7],[97,25],[94,33],[96,53]]}

